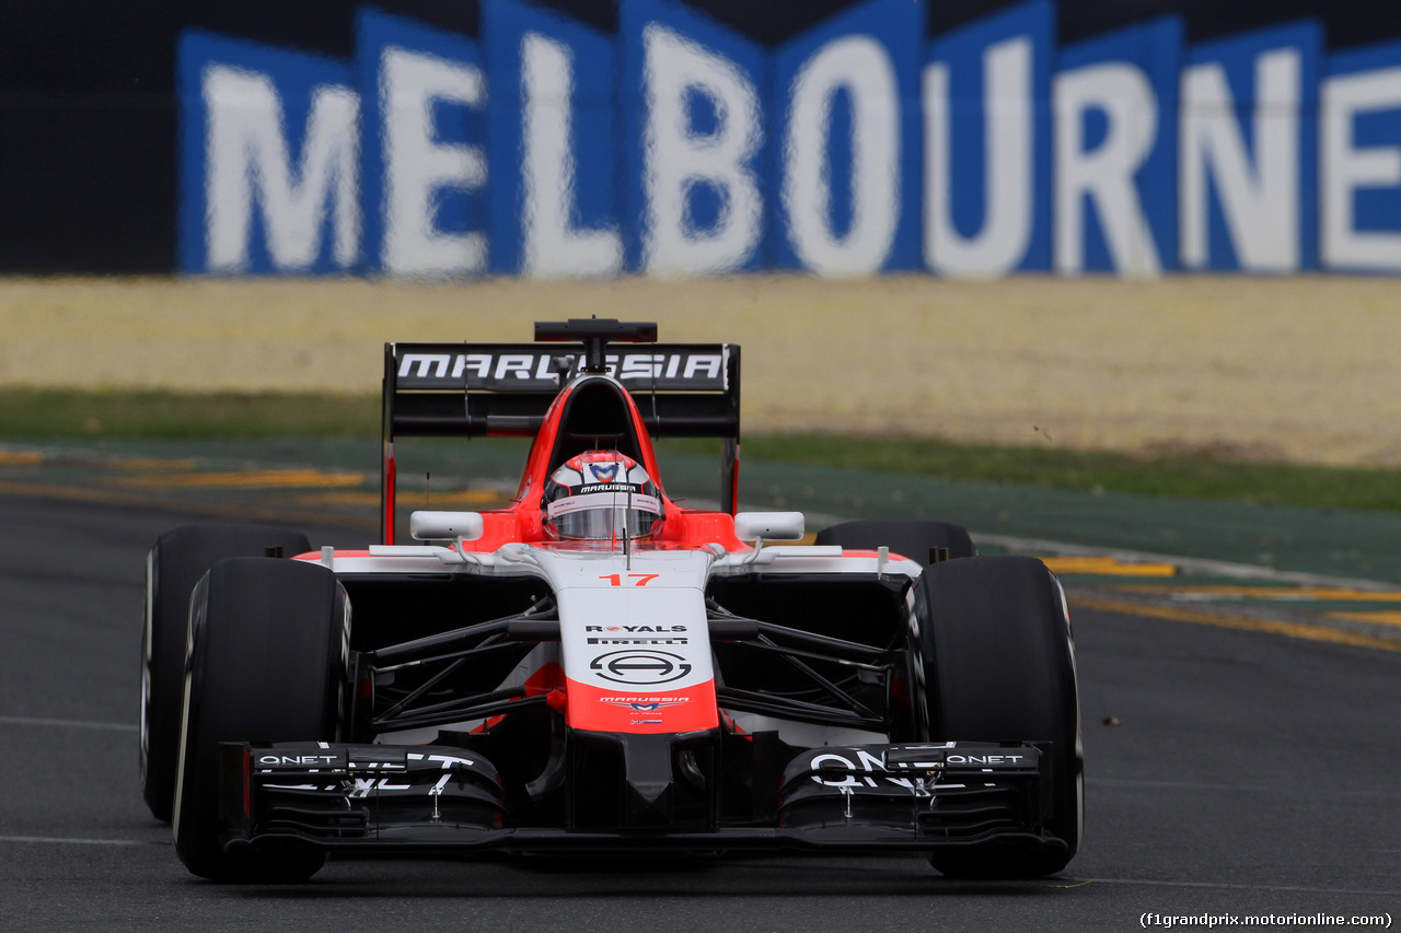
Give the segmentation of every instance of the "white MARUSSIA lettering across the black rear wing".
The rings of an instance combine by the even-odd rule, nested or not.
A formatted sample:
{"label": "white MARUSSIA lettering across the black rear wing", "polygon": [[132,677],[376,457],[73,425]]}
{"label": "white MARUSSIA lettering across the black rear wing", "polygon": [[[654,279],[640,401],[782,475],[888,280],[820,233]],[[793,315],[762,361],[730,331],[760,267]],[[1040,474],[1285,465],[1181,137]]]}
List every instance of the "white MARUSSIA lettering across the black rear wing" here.
{"label": "white MARUSSIA lettering across the black rear wing", "polygon": [[[608,374],[637,391],[724,391],[726,346],[663,346],[609,353]],[[583,353],[535,345],[395,347],[401,389],[469,388],[497,392],[555,391],[583,366]]]}

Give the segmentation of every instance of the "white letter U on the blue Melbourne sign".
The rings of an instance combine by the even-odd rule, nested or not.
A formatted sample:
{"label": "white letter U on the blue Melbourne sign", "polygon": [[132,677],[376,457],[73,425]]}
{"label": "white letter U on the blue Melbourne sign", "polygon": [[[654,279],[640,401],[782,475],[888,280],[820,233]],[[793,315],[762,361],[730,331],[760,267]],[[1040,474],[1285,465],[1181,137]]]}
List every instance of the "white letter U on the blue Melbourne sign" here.
{"label": "white letter U on the blue Melbourne sign", "polygon": [[974,237],[954,227],[948,66],[925,69],[925,263],[940,275],[999,276],[1026,255],[1035,206],[1031,55],[1031,39],[1016,36],[982,56],[985,207]]}

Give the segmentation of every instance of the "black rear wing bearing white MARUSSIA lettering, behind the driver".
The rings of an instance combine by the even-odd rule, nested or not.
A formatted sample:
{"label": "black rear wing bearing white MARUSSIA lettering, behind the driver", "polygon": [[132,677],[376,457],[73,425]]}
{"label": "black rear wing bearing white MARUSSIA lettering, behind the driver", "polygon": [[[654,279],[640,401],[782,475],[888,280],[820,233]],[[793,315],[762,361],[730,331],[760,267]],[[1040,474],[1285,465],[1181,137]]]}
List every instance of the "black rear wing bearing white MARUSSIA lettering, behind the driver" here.
{"label": "black rear wing bearing white MARUSSIA lettering, behind the driver", "polygon": [[[395,437],[534,437],[559,391],[587,366],[584,343],[385,343],[381,539],[394,544]],[[608,346],[605,371],[651,437],[724,440],[722,507],[738,509],[740,347]]]}

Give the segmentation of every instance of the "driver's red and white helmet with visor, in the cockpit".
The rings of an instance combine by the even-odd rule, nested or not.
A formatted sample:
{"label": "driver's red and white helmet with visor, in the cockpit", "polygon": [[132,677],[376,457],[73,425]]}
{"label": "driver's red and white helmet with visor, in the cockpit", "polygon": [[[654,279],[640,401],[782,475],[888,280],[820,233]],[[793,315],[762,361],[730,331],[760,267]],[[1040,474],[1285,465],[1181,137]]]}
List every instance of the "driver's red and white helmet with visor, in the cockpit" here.
{"label": "driver's red and white helmet with visor, in the cockpit", "polygon": [[545,534],[563,541],[633,541],[661,531],[661,493],[647,471],[615,450],[570,457],[545,483]]}

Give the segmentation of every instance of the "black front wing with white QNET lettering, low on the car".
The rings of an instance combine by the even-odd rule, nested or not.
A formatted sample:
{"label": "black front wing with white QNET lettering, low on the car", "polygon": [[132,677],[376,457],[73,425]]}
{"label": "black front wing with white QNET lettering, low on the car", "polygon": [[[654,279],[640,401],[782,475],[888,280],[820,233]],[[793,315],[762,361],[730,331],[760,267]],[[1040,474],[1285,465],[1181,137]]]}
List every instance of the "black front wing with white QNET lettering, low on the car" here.
{"label": "black front wing with white QNET lettering, low on the car", "polygon": [[[783,772],[771,820],[513,825],[496,768],[455,747],[226,742],[226,849],[1054,849],[1045,744],[829,747]],[[566,814],[586,811],[567,807]]]}

